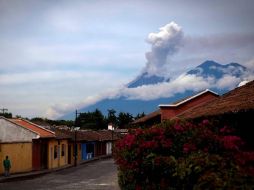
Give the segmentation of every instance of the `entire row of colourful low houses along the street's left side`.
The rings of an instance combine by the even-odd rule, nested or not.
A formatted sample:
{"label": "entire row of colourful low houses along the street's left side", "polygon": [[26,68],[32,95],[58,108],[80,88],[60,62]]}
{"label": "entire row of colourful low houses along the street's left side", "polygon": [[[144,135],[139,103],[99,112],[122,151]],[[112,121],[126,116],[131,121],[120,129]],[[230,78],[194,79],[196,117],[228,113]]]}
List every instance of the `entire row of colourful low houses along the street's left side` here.
{"label": "entire row of colourful low houses along the street's left side", "polygon": [[0,117],[0,160],[9,156],[11,173],[54,169],[111,155],[116,139],[112,130],[53,131],[25,119]]}

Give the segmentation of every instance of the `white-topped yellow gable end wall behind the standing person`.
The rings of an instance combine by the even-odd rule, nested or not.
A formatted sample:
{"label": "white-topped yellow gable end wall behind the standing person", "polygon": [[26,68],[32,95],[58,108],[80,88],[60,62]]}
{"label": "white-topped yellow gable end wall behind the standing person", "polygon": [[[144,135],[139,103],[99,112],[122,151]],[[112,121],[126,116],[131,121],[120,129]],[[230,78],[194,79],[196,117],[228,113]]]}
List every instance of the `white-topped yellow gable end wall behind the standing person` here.
{"label": "white-topped yellow gable end wall behind the standing person", "polygon": [[[33,169],[32,165],[32,139],[38,135],[24,127],[17,125],[9,119],[0,117],[0,160],[5,156],[11,159],[11,172],[28,172]],[[2,164],[0,173],[4,172]]]}

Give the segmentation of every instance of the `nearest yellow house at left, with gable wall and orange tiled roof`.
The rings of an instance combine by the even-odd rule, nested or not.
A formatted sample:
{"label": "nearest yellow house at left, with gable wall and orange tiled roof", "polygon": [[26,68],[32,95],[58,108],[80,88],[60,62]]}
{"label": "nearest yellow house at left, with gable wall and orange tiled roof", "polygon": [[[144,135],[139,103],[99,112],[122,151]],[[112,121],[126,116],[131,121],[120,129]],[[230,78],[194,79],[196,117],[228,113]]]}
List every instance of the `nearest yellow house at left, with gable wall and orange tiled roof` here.
{"label": "nearest yellow house at left, with gable wall and orange tiled roof", "polygon": [[[68,164],[68,139],[24,119],[0,117],[0,159],[8,155],[11,173],[53,169]],[[2,164],[0,172],[3,172]]]}

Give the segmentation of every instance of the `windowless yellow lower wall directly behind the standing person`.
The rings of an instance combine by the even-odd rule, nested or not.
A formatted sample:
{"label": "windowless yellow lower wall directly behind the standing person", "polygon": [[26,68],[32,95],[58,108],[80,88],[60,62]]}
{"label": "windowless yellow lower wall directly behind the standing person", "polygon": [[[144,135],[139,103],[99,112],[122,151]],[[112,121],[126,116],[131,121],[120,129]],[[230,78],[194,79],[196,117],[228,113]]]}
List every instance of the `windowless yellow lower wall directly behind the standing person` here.
{"label": "windowless yellow lower wall directly behind the standing person", "polygon": [[32,171],[32,143],[1,143],[0,144],[0,173],[4,172],[3,160],[8,155],[11,161],[11,173]]}

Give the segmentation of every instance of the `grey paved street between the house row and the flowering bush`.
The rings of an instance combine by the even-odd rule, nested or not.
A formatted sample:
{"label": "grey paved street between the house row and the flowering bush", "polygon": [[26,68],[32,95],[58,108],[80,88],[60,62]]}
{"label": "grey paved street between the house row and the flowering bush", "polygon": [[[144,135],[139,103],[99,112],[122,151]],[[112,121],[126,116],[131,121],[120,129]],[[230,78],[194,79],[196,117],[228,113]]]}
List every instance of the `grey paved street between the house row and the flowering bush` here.
{"label": "grey paved street between the house row and the flowering bush", "polygon": [[0,190],[120,190],[113,159],[79,165],[34,179],[0,183]]}

